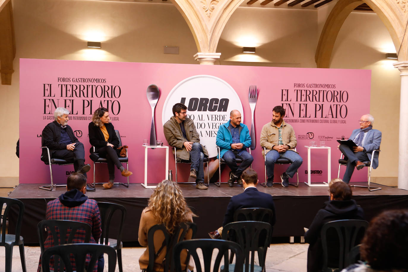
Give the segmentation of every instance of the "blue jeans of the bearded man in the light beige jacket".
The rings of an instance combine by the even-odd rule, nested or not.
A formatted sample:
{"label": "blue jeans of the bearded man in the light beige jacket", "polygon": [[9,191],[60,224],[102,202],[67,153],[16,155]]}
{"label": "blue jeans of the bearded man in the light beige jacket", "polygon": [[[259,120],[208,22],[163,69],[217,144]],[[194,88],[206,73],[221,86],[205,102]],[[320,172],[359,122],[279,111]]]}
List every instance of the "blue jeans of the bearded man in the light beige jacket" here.
{"label": "blue jeans of the bearded man in the light beige jacket", "polygon": [[275,168],[275,162],[280,157],[284,157],[292,161],[292,164],[289,165],[288,169],[286,169],[286,175],[292,178],[295,175],[297,169],[302,165],[303,159],[297,154],[295,151],[288,150],[286,152],[279,153],[276,150],[271,150],[266,153],[266,176],[268,177],[268,181],[273,181],[273,169]]}

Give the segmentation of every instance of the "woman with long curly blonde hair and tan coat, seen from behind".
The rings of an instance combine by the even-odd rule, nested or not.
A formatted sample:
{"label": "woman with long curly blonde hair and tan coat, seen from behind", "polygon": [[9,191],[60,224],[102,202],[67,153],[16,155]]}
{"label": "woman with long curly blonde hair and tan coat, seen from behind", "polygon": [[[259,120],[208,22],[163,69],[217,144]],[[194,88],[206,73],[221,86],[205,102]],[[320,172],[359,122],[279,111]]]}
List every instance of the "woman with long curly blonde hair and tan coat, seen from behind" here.
{"label": "woman with long curly blonde hair and tan coat, seen from behind", "polygon": [[[182,222],[193,222],[193,212],[187,207],[180,187],[173,181],[164,180],[155,188],[149,199],[149,204],[142,211],[139,225],[140,245],[147,247],[139,258],[140,269],[146,269],[149,265],[149,244],[147,243],[147,234],[151,227],[157,224],[163,224],[169,234],[173,234],[176,228]],[[186,239],[191,239],[191,232],[187,232]],[[157,252],[162,247],[164,235],[158,233],[155,235],[154,248]],[[187,252],[182,252],[186,257]],[[154,260],[153,271],[163,271],[163,261],[166,257],[166,247],[162,248]],[[183,271],[186,270],[182,264]],[[192,262],[188,265],[189,270],[193,270]]]}

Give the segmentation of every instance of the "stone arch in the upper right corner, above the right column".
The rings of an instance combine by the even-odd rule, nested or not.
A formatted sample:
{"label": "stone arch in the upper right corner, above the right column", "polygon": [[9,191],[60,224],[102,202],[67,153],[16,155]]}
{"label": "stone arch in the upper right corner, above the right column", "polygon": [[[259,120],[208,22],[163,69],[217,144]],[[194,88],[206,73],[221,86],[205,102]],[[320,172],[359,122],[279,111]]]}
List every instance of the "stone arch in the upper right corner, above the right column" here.
{"label": "stone arch in the upper right corner, above the right column", "polygon": [[[364,0],[381,21],[387,27],[392,42],[397,51],[399,50],[399,60],[406,60],[407,46],[404,40],[404,32],[407,20],[408,5],[401,0],[383,1],[383,0]],[[330,12],[326,23],[320,34],[317,44],[315,61],[317,68],[329,68],[330,58],[337,35],[347,16],[357,6],[362,4],[362,0],[339,0]],[[404,44],[401,44],[404,40]]]}

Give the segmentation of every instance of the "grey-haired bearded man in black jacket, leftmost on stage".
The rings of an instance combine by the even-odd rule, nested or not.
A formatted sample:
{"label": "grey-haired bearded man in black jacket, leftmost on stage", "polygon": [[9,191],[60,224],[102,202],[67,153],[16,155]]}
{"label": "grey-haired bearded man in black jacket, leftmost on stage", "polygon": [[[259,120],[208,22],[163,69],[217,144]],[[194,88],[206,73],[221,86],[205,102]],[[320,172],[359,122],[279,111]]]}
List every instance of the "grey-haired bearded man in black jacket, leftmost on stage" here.
{"label": "grey-haired bearded man in black jacket, leftmost on stage", "polygon": [[[47,146],[51,158],[73,161],[74,171],[85,175],[91,169],[85,164],[84,145],[75,137],[73,130],[68,126],[69,111],[66,108],[56,108],[54,111],[55,121],[49,123],[42,130],[42,144]],[[41,160],[48,163],[47,149],[42,148]],[[86,186],[86,190],[95,189]]]}

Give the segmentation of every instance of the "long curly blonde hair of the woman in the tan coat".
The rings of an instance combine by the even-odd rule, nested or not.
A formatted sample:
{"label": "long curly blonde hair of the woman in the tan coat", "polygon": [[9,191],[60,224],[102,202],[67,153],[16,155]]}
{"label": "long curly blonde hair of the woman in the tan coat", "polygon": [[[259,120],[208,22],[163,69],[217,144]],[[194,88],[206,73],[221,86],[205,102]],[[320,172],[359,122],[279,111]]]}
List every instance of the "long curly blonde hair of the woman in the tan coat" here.
{"label": "long curly blonde hair of the woman in the tan coat", "polygon": [[174,181],[163,180],[160,182],[149,199],[148,204],[153,217],[164,224],[169,233],[173,233],[181,222],[187,221],[191,213],[180,187]]}

